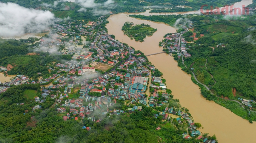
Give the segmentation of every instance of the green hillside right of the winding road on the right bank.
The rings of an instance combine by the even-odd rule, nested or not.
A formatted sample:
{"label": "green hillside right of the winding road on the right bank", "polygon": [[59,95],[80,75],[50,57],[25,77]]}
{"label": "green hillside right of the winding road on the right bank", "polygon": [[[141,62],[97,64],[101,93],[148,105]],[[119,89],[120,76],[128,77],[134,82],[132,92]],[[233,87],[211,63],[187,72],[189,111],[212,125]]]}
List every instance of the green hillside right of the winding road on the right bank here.
{"label": "green hillside right of the winding road on the right bank", "polygon": [[[188,53],[194,56],[186,58],[184,62],[186,65],[191,65],[198,79],[212,87],[212,91],[218,96],[234,98],[232,89],[236,88],[238,95],[256,99],[253,94],[256,92],[254,88],[256,80],[253,76],[256,73],[256,65],[253,63],[256,47],[250,43],[250,40],[253,41],[255,37],[249,36],[251,39],[249,41],[247,39],[248,35],[255,35],[255,31],[247,31],[247,27],[248,25],[243,25],[243,22],[239,21],[220,21],[195,26],[198,34],[207,35],[195,41],[194,44],[188,44],[191,46]],[[224,37],[221,37],[222,35]],[[215,85],[209,73],[216,80]]]}

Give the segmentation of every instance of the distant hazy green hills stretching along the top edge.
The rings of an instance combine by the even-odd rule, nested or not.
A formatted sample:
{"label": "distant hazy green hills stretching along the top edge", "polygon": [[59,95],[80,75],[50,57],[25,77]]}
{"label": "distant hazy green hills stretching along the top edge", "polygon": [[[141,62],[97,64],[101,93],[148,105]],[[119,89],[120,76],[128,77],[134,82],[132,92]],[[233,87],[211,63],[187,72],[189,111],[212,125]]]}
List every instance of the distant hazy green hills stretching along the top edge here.
{"label": "distant hazy green hills stretching along the top edge", "polygon": [[[20,0],[2,0],[1,2],[12,2],[19,4],[20,6],[26,8],[36,8],[40,10],[50,10],[59,18],[76,18],[80,20],[96,20],[97,10],[104,11],[108,10],[113,13],[120,12],[144,12],[149,8],[152,9],[152,12],[186,12],[199,10],[201,6],[204,6],[204,9],[210,9],[210,6],[214,8],[222,7],[225,5],[232,5],[235,2],[240,0],[114,0],[115,6],[101,6],[97,9],[95,8],[86,8],[86,11],[79,12],[82,6],[79,2],[68,2],[68,1],[56,1],[56,0],[33,0],[33,1],[20,1]],[[95,3],[103,4],[106,0],[96,0]],[[148,7],[149,6],[149,7]],[[186,8],[176,7],[176,6],[187,6]],[[101,13],[99,13],[101,15]]]}

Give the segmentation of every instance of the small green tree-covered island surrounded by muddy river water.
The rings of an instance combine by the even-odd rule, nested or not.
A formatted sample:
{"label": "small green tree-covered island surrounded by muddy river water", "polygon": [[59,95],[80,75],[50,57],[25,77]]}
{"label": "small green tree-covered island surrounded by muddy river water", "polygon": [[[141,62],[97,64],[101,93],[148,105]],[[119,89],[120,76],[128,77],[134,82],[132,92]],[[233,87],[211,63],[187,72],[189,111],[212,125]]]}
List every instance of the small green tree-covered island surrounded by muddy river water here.
{"label": "small green tree-covered island surrounded by muddy river water", "polygon": [[148,24],[136,24],[134,25],[132,22],[125,22],[122,27],[122,31],[125,35],[130,37],[130,39],[135,39],[135,41],[143,42],[147,36],[152,36],[153,33],[157,31],[157,29],[152,28]]}

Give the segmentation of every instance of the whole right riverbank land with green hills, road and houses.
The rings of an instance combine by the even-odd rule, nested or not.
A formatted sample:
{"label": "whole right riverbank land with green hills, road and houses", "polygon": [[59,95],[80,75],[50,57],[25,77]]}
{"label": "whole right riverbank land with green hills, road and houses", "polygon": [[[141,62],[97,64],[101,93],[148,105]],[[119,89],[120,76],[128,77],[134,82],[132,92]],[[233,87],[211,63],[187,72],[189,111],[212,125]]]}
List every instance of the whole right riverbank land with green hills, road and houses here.
{"label": "whole right riverbank land with green hills, road and houses", "polygon": [[[192,81],[200,86],[204,97],[251,123],[256,121],[254,11],[251,15],[237,18],[195,14],[186,17],[130,16],[170,26],[174,26],[178,19],[189,20],[186,25],[184,22],[176,24],[180,27],[177,33],[166,34],[159,45],[166,53],[172,53],[182,70],[192,74]],[[189,30],[182,28],[184,26]],[[178,49],[177,37],[180,34],[183,35]]]}

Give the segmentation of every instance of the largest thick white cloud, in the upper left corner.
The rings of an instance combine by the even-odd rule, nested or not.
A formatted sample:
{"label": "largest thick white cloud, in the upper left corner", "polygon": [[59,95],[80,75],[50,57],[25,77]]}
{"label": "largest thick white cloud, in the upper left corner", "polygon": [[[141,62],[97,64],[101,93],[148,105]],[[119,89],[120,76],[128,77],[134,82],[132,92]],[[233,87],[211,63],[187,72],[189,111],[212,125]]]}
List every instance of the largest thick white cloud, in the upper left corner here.
{"label": "largest thick white cloud, in the upper left corner", "polygon": [[16,37],[48,29],[54,21],[50,11],[24,8],[14,3],[0,3],[0,37]]}

